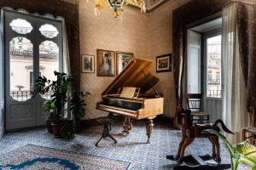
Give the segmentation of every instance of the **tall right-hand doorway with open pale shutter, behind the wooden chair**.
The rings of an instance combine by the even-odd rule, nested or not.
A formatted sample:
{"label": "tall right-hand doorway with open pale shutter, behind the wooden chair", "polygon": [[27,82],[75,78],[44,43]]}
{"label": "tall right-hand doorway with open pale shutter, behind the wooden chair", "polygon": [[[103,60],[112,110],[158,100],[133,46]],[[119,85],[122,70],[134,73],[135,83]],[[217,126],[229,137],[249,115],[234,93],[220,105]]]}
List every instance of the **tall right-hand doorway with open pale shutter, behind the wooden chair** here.
{"label": "tall right-hand doorway with open pale shutter, behind the wooden chair", "polygon": [[209,21],[188,31],[187,94],[203,94],[202,111],[210,121],[222,113],[222,19]]}

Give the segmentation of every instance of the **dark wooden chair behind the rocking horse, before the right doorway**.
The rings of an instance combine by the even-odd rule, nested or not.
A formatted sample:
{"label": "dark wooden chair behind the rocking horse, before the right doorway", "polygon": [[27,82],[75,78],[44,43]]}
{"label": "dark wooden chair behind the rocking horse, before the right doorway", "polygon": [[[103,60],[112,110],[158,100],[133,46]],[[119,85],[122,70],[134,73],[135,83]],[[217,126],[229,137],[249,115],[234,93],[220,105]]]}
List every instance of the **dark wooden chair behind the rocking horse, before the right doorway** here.
{"label": "dark wooden chair behind the rocking horse, before the right doorway", "polygon": [[203,94],[187,94],[186,95],[188,109],[192,112],[192,122],[206,123],[209,122],[209,115],[201,111]]}

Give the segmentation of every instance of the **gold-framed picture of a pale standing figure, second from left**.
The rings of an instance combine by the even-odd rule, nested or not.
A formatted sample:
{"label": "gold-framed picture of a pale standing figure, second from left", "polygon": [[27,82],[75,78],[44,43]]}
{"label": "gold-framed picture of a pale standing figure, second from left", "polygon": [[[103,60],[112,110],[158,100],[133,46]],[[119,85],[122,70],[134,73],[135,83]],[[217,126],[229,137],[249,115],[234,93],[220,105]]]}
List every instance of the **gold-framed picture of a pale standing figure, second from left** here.
{"label": "gold-framed picture of a pale standing figure, second from left", "polygon": [[97,49],[97,76],[114,77],[115,76],[115,52]]}

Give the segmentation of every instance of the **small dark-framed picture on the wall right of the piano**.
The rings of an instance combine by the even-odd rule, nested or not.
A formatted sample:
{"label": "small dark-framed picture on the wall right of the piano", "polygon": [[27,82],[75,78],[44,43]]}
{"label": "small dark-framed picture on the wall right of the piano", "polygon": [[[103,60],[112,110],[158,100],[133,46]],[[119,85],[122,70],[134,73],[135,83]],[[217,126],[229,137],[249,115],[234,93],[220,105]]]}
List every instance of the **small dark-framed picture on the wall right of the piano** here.
{"label": "small dark-framed picture on the wall right of the piano", "polygon": [[156,72],[172,71],[172,54],[156,57]]}

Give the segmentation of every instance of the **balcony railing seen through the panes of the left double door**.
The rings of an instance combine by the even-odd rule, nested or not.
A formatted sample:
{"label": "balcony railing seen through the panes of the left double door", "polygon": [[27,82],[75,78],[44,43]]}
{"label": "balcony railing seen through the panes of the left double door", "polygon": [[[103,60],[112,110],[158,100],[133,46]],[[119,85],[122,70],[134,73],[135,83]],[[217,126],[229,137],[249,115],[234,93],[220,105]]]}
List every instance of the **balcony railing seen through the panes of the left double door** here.
{"label": "balcony railing seen through the panes of the left double door", "polygon": [[[26,101],[27,99],[31,99],[32,97],[32,92],[31,90],[18,90],[18,91],[10,91],[10,96],[13,99],[16,99],[18,101]],[[52,95],[52,92],[49,91],[46,94],[40,94],[42,98],[44,99],[50,99],[50,96]]]}

